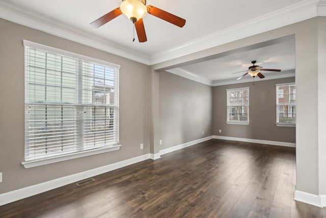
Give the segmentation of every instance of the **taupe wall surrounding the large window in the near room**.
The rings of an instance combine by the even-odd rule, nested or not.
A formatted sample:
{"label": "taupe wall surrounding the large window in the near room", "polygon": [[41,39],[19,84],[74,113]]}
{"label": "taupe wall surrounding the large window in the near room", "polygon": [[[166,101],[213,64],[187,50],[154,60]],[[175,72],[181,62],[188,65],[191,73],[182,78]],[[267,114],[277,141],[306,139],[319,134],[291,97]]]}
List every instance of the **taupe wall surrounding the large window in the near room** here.
{"label": "taupe wall surrounding the large window in the near room", "polygon": [[[0,193],[149,153],[149,66],[3,19],[0,30]],[[24,161],[23,39],[121,65],[119,151],[28,169],[20,165]]]}

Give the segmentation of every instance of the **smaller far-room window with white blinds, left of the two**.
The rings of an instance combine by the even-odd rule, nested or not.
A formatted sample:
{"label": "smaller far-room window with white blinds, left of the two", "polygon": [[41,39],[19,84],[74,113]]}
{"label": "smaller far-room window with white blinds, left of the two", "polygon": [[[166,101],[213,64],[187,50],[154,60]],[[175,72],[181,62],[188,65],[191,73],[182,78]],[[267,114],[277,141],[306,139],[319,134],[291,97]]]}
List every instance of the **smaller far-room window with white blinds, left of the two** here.
{"label": "smaller far-room window with white blinds, left of the two", "polygon": [[249,125],[249,87],[227,89],[227,123]]}

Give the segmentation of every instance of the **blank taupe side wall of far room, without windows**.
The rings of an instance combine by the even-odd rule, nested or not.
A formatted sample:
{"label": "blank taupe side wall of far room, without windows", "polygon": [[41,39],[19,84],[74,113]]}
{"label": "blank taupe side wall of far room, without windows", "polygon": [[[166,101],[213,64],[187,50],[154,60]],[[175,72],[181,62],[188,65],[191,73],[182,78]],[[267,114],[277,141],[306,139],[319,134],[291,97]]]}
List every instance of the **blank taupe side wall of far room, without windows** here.
{"label": "blank taupe side wall of far room, without windows", "polygon": [[211,136],[211,122],[211,86],[159,72],[160,150]]}

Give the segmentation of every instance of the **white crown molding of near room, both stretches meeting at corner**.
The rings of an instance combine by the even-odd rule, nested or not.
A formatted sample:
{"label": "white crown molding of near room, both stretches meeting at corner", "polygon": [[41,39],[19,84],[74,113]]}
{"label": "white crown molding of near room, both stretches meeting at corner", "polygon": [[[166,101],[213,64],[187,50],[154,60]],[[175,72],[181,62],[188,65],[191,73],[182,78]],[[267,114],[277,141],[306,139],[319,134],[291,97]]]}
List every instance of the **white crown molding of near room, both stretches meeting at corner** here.
{"label": "white crown molding of near room, both stretches meeting at corner", "polygon": [[216,32],[206,37],[185,43],[172,50],[162,51],[152,57],[148,57],[127,50],[122,46],[117,46],[103,38],[87,34],[82,30],[69,27],[64,23],[53,22],[53,20],[49,20],[41,15],[32,15],[23,12],[22,9],[0,3],[1,18],[147,65],[168,61],[204,49],[209,49],[213,46],[274,30],[315,16],[326,16],[325,0],[306,0],[248,22],[235,25],[224,31]]}

